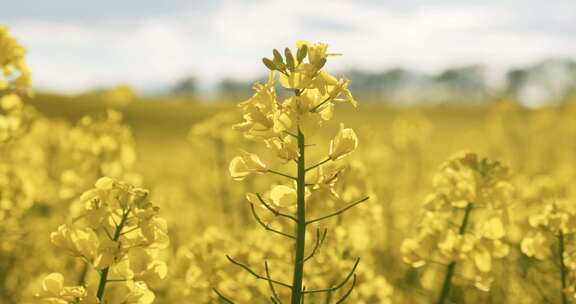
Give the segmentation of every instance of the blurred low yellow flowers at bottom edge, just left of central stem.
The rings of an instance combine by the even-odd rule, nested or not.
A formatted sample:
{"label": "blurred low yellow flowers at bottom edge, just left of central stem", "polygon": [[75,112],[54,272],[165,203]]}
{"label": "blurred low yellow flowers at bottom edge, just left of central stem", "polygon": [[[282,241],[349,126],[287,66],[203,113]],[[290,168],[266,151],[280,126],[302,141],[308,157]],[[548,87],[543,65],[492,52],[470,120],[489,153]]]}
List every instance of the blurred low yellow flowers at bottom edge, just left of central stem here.
{"label": "blurred low yellow flowers at bottom edge, just left of central stem", "polygon": [[[231,264],[222,252],[230,250],[229,254],[237,259],[258,263],[263,257],[270,261],[281,258],[285,246],[264,238],[264,232],[260,230],[245,229],[243,234],[244,238],[240,240],[221,229],[210,227],[190,244],[179,248],[171,265],[173,280],[167,288],[170,303],[219,303],[217,295],[211,292],[214,287],[238,303],[266,301],[267,286],[250,284],[251,275]],[[274,274],[278,280],[288,277]]]}

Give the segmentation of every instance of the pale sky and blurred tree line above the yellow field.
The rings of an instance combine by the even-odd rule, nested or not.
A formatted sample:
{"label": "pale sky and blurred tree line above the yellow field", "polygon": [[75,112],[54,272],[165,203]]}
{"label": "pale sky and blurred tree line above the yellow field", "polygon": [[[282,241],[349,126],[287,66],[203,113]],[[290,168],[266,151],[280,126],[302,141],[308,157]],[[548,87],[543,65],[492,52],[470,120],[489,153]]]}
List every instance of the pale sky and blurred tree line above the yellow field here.
{"label": "pale sky and blurred tree line above the yellow field", "polygon": [[[559,103],[576,83],[571,0],[10,1],[39,91],[243,99],[260,59],[297,40],[344,56],[328,69],[364,100]],[[189,98],[190,99],[190,98]]]}

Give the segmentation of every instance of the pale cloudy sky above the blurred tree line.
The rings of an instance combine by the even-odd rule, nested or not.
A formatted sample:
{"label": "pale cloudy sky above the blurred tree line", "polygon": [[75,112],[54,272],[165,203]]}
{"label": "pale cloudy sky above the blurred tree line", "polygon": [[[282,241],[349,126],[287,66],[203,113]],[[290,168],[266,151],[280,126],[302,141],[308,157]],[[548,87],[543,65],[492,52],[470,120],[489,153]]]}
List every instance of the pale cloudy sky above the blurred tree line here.
{"label": "pale cloudy sky above the blurred tree line", "polygon": [[298,40],[342,53],[333,71],[503,71],[576,58],[575,21],[574,0],[18,0],[0,10],[28,48],[35,86],[68,93],[253,79],[262,57]]}

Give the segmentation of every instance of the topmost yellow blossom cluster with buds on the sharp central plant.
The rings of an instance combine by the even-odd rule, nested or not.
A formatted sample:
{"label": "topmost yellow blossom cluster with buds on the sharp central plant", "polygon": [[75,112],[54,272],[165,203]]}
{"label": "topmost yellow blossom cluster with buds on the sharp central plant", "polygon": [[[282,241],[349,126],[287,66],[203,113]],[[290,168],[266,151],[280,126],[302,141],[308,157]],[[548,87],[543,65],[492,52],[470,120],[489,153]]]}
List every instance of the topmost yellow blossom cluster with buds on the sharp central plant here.
{"label": "topmost yellow blossom cluster with buds on the sharp central plant", "polygon": [[[330,56],[326,53],[328,46],[307,42],[299,42],[297,46],[296,56],[286,49],[286,63],[278,51],[274,52],[274,60],[264,59],[271,70],[268,82],[254,85],[254,96],[240,103],[244,121],[234,126],[246,136],[264,139],[272,147],[282,147],[279,150],[295,147],[286,131],[299,128],[305,135],[315,133],[332,118],[335,103],[345,101],[357,106],[348,90],[350,81],[337,79],[322,69]],[[295,96],[277,99],[277,72],[282,87],[297,92]]]}

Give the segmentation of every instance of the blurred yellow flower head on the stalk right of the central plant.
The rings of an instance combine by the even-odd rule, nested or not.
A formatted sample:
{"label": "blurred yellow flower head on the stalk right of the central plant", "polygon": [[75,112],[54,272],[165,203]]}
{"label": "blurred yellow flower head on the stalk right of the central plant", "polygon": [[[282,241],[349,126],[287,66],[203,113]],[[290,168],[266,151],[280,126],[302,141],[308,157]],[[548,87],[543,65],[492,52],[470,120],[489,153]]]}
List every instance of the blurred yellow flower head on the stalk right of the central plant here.
{"label": "blurred yellow flower head on the stalk right of the central plant", "polygon": [[402,243],[404,261],[413,267],[461,265],[464,278],[489,290],[494,259],[509,252],[504,240],[508,169],[473,153],[461,154],[442,165],[434,188],[418,234]]}

